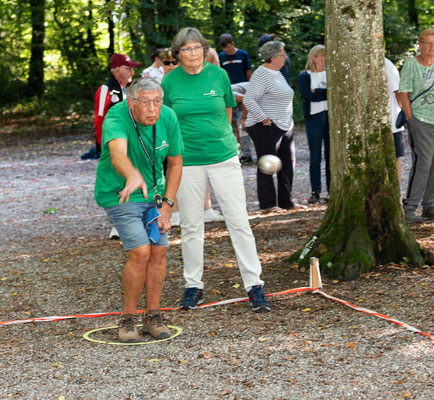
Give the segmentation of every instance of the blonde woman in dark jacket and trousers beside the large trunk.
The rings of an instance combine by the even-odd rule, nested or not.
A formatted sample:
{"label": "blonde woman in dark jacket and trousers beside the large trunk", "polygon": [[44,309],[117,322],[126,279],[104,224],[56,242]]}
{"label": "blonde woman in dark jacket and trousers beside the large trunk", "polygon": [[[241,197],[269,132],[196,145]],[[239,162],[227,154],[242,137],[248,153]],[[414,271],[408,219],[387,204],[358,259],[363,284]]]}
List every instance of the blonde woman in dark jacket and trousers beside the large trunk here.
{"label": "blonde woman in dark jacket and trousers beside the large trunk", "polygon": [[330,136],[327,107],[325,47],[318,44],[309,52],[306,70],[298,76],[298,90],[303,99],[303,115],[309,144],[309,174],[312,194],[309,204],[318,203],[321,193],[321,149],[324,142],[327,192],[330,191]]}

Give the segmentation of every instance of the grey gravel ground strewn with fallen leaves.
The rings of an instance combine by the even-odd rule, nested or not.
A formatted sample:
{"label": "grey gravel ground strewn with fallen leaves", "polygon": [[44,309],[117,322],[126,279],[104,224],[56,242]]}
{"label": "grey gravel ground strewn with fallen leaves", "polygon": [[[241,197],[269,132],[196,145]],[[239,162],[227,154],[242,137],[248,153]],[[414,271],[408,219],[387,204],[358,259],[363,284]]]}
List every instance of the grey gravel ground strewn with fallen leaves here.
{"label": "grey gravel ground strewn with fallen leaves", "polygon": [[[125,254],[118,241],[107,240],[107,218],[93,200],[96,162],[79,160],[90,141],[74,134],[21,141],[11,132],[0,149],[0,320],[120,310]],[[294,193],[306,205],[308,149],[301,128],[296,147]],[[403,166],[405,189],[409,154]],[[307,286],[308,271],[285,259],[318,228],[325,205],[264,217],[258,214],[254,164],[243,172],[267,291]],[[244,297],[225,225],[206,227],[205,302]],[[433,228],[412,227],[431,250]],[[179,229],[170,243],[163,307],[177,304],[183,285]],[[432,267],[381,266],[355,282],[323,277],[323,283],[331,295],[434,333]],[[430,339],[319,295],[270,299],[273,310],[263,315],[245,302],[166,311],[166,321],[182,327],[182,334],[143,346],[82,338],[116,325],[116,316],[2,326],[0,398],[433,397]],[[115,340],[116,331],[93,337]]]}

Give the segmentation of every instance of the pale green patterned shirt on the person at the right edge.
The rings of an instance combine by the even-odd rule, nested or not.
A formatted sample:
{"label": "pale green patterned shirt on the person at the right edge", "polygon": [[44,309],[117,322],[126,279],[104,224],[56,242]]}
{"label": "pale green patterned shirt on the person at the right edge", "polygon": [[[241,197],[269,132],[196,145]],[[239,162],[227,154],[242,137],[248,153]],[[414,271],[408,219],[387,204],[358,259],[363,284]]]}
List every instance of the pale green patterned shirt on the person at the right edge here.
{"label": "pale green patterned shirt on the person at the right edge", "polygon": [[[434,64],[424,67],[415,57],[409,58],[401,71],[400,93],[410,93],[410,100],[432,86],[434,82]],[[411,111],[419,120],[434,124],[434,86],[411,103]]]}

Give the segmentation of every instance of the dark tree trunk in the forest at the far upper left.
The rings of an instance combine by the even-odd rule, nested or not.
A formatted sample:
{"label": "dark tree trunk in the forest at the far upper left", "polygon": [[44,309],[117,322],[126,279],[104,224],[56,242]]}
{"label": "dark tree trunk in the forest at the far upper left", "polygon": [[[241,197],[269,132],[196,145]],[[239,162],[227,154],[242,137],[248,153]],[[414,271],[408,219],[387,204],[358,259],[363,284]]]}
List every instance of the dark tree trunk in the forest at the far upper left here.
{"label": "dark tree trunk in the forest at the far upper left", "polygon": [[32,12],[32,43],[27,94],[42,96],[44,92],[45,0],[30,0]]}

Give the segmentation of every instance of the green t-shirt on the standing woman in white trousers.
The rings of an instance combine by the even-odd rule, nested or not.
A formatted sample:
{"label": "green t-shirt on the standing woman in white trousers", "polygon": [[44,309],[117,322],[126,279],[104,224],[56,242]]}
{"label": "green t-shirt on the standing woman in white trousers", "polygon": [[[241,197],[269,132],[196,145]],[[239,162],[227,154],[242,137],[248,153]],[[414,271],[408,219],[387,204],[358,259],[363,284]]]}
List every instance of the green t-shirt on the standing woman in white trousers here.
{"label": "green t-shirt on the standing woman in white trousers", "polygon": [[185,166],[216,164],[237,155],[237,141],[226,114],[235,107],[227,72],[205,63],[199,74],[182,66],[163,78],[164,104],[178,116]]}

